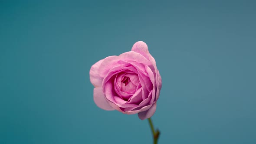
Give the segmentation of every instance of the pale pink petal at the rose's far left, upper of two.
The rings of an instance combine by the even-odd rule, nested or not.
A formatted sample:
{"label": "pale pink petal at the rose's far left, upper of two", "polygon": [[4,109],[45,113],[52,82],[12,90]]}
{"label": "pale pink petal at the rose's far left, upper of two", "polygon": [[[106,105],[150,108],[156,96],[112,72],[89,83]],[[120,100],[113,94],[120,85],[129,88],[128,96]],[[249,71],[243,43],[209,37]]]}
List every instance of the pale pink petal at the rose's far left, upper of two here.
{"label": "pale pink petal at the rose's far left, upper of two", "polygon": [[101,77],[98,73],[99,72],[98,68],[102,64],[102,62],[103,62],[103,59],[96,62],[94,65],[92,65],[90,72],[89,72],[90,80],[94,87],[99,87],[102,85],[103,77]]}

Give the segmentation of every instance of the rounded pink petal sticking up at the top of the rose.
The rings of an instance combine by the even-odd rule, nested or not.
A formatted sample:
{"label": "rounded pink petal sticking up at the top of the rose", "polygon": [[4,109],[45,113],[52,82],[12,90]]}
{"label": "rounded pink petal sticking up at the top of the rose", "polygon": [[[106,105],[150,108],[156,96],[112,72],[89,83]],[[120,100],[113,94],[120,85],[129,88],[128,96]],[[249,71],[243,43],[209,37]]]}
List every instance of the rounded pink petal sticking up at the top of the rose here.
{"label": "rounded pink petal sticking up at the top of the rose", "polygon": [[151,56],[151,54],[148,51],[148,45],[142,41],[138,41],[136,42],[132,48],[131,51],[134,52],[138,52],[140,53],[142,56],[144,56],[145,58],[147,58],[150,62],[152,62],[152,64],[154,65],[154,68],[157,69],[157,65],[156,62],[153,58],[153,56]]}

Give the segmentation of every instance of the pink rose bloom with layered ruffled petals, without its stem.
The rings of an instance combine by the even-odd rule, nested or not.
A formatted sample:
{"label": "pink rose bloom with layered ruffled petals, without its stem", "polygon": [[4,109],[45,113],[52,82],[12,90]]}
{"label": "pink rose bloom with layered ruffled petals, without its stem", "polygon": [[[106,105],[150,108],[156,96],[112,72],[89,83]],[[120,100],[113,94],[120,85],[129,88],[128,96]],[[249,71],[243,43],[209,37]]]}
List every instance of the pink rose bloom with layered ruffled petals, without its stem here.
{"label": "pink rose bloom with layered ruffled petals, without its stem", "polygon": [[135,43],[130,52],[108,56],[92,65],[95,104],[104,110],[137,114],[141,120],[156,111],[162,79],[146,43]]}

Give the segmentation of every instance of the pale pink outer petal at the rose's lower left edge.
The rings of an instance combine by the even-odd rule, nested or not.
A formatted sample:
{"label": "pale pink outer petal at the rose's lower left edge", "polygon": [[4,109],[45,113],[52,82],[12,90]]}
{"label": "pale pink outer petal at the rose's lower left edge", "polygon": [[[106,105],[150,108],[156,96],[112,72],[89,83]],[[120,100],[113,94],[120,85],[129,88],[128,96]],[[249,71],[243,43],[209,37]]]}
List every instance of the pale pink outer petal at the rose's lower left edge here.
{"label": "pale pink outer petal at the rose's lower left edge", "polygon": [[93,100],[99,108],[102,108],[107,111],[115,110],[115,108],[112,108],[109,105],[109,103],[106,101],[101,87],[97,87],[93,89]]}

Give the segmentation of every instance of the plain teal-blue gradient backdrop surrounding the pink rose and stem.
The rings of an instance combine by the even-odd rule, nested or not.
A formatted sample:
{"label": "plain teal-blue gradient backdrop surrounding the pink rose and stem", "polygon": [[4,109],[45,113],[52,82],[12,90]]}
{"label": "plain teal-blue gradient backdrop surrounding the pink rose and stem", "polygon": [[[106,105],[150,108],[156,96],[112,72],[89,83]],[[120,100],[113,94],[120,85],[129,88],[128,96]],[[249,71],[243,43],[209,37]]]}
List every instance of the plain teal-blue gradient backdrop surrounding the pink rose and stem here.
{"label": "plain teal-blue gradient backdrop surrounding the pink rose and stem", "polygon": [[0,1],[0,144],[151,144],[93,101],[90,67],[142,40],[159,144],[256,143],[256,2]]}

